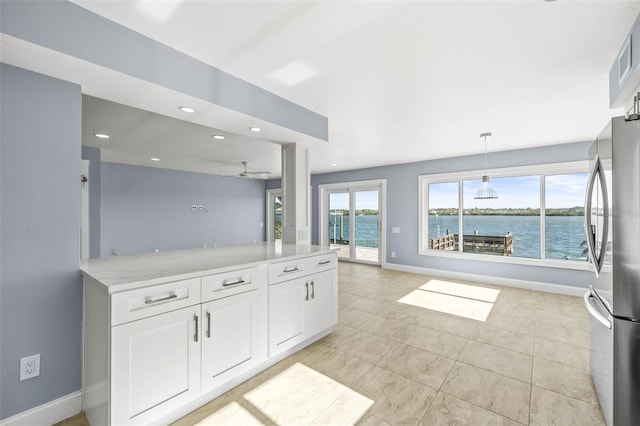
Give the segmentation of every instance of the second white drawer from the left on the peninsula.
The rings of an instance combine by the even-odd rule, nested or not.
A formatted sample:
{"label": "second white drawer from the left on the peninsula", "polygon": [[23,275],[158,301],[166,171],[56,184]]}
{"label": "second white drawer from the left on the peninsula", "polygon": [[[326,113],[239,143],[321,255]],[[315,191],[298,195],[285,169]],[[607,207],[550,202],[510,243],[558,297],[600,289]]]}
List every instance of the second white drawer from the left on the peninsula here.
{"label": "second white drawer from the left on the peninsula", "polygon": [[202,301],[255,290],[267,283],[267,265],[239,269],[202,278]]}

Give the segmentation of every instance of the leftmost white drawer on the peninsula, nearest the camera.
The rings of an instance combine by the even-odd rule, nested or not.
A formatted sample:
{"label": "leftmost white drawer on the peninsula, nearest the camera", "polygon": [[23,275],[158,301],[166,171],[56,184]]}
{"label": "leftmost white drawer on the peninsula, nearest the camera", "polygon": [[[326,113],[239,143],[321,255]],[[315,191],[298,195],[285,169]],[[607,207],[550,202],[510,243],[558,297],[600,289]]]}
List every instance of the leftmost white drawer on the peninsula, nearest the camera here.
{"label": "leftmost white drawer on the peninsula, nearest the camera", "polygon": [[200,303],[200,278],[158,284],[111,296],[111,325]]}

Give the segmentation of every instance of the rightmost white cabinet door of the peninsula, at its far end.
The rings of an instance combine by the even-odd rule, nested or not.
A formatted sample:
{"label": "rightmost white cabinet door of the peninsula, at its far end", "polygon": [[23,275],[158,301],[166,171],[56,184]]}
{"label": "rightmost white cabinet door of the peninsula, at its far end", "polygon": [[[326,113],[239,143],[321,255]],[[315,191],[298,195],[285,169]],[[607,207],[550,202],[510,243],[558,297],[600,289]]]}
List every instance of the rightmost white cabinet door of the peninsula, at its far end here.
{"label": "rightmost white cabinet door of the peninsula, at its far end", "polygon": [[315,274],[308,279],[309,300],[305,304],[305,334],[311,337],[335,324],[335,270]]}

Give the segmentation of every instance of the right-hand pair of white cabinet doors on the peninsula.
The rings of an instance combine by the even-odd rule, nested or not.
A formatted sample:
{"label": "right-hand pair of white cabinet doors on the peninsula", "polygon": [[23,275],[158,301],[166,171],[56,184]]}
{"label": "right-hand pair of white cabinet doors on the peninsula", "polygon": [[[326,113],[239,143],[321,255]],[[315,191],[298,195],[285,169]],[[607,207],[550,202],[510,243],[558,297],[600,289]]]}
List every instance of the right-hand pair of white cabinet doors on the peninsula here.
{"label": "right-hand pair of white cabinet doors on the peninsula", "polygon": [[[312,269],[309,265],[318,263],[314,258],[307,260],[305,270]],[[282,270],[280,265],[275,267]],[[270,275],[273,276],[272,273]],[[269,356],[336,324],[337,288],[335,264],[323,272],[270,285]]]}

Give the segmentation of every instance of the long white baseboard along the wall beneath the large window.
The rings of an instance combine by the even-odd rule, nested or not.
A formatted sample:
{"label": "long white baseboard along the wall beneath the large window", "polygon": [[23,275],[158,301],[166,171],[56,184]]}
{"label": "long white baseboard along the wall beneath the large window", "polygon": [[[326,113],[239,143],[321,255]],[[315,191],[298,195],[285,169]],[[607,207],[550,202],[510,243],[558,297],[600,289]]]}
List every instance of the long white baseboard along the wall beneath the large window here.
{"label": "long white baseboard along the wall beneath the large window", "polygon": [[446,271],[444,269],[420,268],[417,266],[399,265],[397,263],[387,263],[385,269],[393,271],[411,272],[414,274],[429,275],[438,278],[459,279],[465,281],[475,281],[482,284],[495,284],[505,287],[522,288],[525,290],[546,291],[547,293],[566,294],[569,296],[583,296],[587,290],[582,287],[572,287],[563,284],[549,284],[538,281],[517,280],[512,278],[492,277],[488,275],[475,275],[466,272]]}

